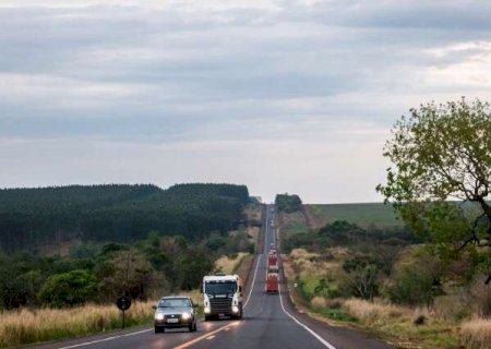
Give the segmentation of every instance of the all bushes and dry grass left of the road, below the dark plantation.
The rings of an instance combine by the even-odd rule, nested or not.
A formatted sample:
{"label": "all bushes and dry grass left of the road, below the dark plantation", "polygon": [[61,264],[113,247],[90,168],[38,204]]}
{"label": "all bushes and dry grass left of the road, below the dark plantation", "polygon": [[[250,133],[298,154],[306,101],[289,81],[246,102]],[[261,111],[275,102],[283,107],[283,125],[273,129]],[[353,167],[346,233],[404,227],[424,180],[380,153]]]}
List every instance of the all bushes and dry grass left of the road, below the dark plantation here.
{"label": "all bushes and dry grass left of the road, below the dark plantation", "polygon": [[237,230],[199,241],[152,232],[134,244],[77,242],[67,255],[0,254],[0,347],[120,328],[115,301],[123,294],[133,299],[128,326],[152,324],[163,296],[201,304],[203,275],[221,269],[246,278],[259,239],[251,219],[261,219],[260,205],[246,207]]}

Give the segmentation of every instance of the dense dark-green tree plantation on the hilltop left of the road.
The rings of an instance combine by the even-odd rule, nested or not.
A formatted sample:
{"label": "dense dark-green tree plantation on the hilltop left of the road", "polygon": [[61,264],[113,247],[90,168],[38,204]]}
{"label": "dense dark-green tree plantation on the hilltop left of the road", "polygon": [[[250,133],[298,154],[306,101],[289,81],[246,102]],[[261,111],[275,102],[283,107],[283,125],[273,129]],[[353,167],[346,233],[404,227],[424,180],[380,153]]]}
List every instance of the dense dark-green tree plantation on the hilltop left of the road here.
{"label": "dense dark-green tree plantation on the hilltop left of the road", "polygon": [[149,231],[200,240],[241,220],[246,185],[70,185],[0,190],[0,251],[37,251],[74,239],[132,242]]}

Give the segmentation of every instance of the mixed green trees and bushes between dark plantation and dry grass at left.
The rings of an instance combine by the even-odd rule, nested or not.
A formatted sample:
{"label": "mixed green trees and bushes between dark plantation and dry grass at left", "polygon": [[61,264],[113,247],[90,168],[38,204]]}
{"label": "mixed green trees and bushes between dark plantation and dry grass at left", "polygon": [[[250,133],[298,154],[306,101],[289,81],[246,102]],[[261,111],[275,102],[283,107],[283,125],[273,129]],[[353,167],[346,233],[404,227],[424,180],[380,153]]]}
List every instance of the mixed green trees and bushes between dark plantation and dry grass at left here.
{"label": "mixed green trees and bushes between dark plantation and dry grass at left", "polygon": [[67,255],[0,253],[0,311],[158,299],[200,286],[220,255],[253,252],[244,230],[200,241],[156,231],[129,243],[74,243]]}

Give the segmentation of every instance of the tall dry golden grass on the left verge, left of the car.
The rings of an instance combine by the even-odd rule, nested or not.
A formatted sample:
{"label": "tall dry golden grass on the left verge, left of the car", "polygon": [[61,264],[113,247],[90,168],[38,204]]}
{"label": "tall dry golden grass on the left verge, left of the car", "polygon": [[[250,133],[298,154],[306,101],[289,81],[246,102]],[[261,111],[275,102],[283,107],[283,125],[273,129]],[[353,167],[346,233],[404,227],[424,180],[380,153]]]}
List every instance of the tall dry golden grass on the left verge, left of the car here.
{"label": "tall dry golden grass on the left verge, left of the car", "polygon": [[[155,301],[134,302],[127,311],[127,324],[152,320]],[[68,310],[26,309],[0,314],[0,347],[11,347],[119,328],[121,312],[116,305],[85,305]]]}

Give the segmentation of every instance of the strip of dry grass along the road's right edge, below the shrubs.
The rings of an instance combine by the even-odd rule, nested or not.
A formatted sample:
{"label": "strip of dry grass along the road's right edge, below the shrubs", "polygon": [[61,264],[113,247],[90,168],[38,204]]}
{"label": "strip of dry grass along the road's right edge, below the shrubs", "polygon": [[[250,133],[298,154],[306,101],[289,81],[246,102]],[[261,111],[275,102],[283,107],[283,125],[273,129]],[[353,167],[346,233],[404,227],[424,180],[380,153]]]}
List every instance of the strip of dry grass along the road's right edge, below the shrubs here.
{"label": "strip of dry grass along the road's right edge, below the shrubs", "polygon": [[[285,276],[296,306],[327,324],[373,333],[396,348],[463,348],[457,323],[441,318],[434,310],[430,312],[426,308],[411,309],[380,301],[331,299],[316,294],[314,290],[320,279],[330,273],[335,279],[340,261],[349,255],[344,250],[331,252],[336,255],[335,262],[319,260],[319,254],[302,249],[296,249],[284,257]],[[296,288],[294,284],[297,284]],[[490,328],[491,334],[491,325],[479,322],[479,325],[469,324],[465,328],[468,338],[465,344],[474,346],[468,345],[468,348],[490,348],[490,341],[483,335],[488,332],[482,328]]]}

